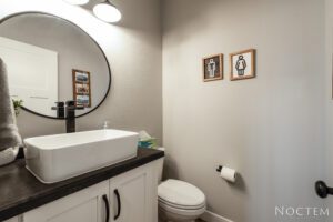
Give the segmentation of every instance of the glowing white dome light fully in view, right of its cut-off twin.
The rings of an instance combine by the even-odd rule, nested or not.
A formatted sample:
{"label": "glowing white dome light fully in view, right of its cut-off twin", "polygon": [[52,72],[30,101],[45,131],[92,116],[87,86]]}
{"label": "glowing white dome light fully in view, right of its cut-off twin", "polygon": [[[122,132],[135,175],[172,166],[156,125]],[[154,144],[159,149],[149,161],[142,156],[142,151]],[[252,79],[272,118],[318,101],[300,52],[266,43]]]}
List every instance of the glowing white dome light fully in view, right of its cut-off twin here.
{"label": "glowing white dome light fully in view, right of its cut-off twin", "polygon": [[120,11],[110,3],[99,3],[94,6],[93,13],[97,18],[105,22],[118,22],[121,19]]}

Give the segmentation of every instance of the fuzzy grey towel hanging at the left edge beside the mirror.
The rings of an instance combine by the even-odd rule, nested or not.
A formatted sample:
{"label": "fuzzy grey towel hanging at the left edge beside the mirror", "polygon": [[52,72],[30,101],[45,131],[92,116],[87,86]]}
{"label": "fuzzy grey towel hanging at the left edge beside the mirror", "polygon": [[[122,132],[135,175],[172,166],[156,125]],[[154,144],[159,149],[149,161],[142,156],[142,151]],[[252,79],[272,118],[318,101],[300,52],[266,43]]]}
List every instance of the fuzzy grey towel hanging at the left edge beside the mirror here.
{"label": "fuzzy grey towel hanging at the left edge beside the mirror", "polygon": [[22,144],[14,118],[6,64],[0,58],[0,151]]}

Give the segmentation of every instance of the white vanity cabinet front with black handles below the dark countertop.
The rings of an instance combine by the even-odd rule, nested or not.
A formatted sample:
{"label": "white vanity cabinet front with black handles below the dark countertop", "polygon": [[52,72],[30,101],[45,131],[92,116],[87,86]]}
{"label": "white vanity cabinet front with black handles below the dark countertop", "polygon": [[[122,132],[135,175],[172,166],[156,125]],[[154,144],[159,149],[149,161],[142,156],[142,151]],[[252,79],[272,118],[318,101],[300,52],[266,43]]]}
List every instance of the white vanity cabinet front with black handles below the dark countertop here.
{"label": "white vanity cabinet front with black handles below the dark countertop", "polygon": [[[23,214],[23,222],[157,222],[158,161]],[[105,204],[109,205],[105,205]]]}

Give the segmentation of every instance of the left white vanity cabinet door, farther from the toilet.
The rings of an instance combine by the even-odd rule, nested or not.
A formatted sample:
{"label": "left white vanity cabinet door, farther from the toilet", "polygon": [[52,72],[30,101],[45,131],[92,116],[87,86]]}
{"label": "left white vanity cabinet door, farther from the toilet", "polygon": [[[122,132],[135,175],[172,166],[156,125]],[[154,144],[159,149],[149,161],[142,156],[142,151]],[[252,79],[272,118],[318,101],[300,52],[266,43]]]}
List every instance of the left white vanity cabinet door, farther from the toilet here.
{"label": "left white vanity cabinet door, farther from the toilet", "polygon": [[95,184],[24,213],[24,222],[104,222],[109,181]]}

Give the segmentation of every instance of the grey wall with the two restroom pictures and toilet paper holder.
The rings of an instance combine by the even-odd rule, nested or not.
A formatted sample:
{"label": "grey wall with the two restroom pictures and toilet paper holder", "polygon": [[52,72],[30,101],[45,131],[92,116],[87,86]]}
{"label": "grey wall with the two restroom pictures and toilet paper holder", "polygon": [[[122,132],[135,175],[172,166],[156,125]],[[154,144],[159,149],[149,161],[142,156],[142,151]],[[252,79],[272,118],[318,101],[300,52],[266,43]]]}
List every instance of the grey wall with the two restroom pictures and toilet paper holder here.
{"label": "grey wall with the two restroom pictures and toilet paper holder", "polygon": [[[234,221],[313,221],[274,209],[323,204],[313,185],[324,174],[324,1],[162,2],[168,175]],[[258,78],[231,82],[228,53],[249,48]],[[201,59],[221,52],[224,80],[202,82]],[[239,183],[219,178],[219,164],[236,169]]]}

